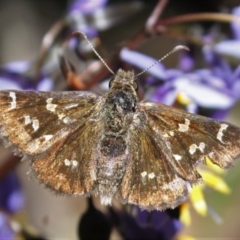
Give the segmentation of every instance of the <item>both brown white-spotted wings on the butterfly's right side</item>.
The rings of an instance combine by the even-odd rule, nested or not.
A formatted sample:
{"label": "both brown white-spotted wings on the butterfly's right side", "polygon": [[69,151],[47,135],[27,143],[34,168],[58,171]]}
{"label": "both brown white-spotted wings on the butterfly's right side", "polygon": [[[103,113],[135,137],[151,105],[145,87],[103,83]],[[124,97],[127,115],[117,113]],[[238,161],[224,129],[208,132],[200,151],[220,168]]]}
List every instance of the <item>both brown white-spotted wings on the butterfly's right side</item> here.
{"label": "both brown white-spotted wings on the butterfly's right side", "polygon": [[129,132],[129,164],[120,195],[147,209],[184,201],[205,157],[227,168],[240,153],[240,129],[172,107],[140,102]]}

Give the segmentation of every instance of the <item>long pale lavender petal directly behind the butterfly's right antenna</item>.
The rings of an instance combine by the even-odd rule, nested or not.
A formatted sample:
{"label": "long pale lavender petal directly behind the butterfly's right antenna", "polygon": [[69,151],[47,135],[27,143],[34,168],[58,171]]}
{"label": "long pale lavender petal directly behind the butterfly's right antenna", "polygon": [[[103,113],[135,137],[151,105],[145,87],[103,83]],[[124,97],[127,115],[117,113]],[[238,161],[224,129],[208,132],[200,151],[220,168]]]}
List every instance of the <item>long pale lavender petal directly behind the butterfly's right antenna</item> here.
{"label": "long pale lavender petal directly behind the butterfly's right antenna", "polygon": [[[152,64],[154,64],[157,60],[146,56],[145,54],[129,50],[127,48],[123,48],[120,52],[120,58],[130,63],[133,66],[136,66],[142,70],[147,69]],[[161,80],[166,80],[166,70],[162,63],[156,63],[155,66],[151,67],[147,70],[151,75],[160,78]]]}

